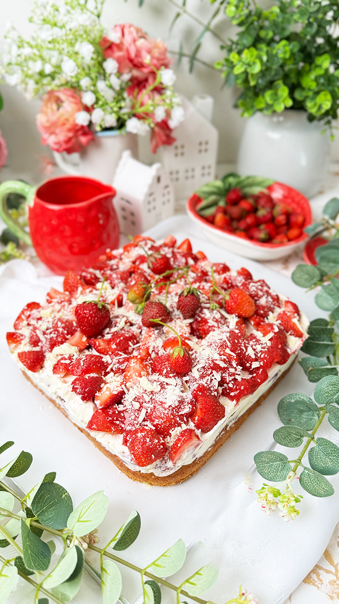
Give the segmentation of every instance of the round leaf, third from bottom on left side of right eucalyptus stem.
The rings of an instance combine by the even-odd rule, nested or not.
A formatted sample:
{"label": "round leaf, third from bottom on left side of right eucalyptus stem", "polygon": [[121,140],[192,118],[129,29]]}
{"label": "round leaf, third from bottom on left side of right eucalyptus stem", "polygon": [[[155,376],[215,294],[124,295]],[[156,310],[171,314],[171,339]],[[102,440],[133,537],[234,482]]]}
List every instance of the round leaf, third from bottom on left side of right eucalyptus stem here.
{"label": "round leaf, third from bottom on left side of right eucalyptus stem", "polygon": [[298,426],[306,431],[313,430],[319,419],[316,403],[302,392],[284,396],[279,401],[278,414],[285,426]]}

